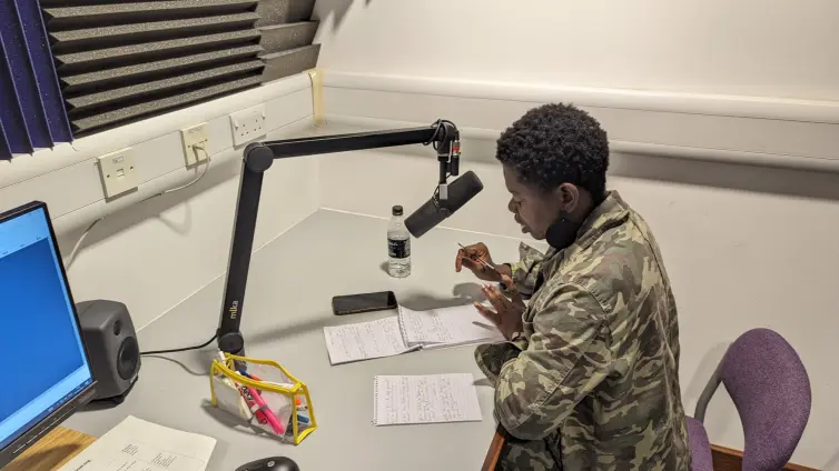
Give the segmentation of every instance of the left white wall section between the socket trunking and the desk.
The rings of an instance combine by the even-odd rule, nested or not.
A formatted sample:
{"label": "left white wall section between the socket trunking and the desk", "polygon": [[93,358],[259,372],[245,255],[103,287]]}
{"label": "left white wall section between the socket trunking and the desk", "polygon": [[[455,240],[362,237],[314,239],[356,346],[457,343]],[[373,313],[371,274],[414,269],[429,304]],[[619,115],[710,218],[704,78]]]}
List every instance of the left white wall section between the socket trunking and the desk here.
{"label": "left white wall section between the socket trunking and the desk", "polygon": [[[282,136],[307,129],[269,134]],[[295,128],[293,126],[293,128]],[[294,131],[294,132],[289,132]],[[69,269],[77,302],[113,299],[125,302],[134,322],[146,325],[204,288],[227,269],[240,162],[214,168],[198,184],[117,212],[93,228]],[[254,249],[258,250],[312,214],[318,207],[314,160],[275,163],[265,176]],[[81,231],[59,236],[63,254]],[[221,309],[207,312],[207,338]]]}

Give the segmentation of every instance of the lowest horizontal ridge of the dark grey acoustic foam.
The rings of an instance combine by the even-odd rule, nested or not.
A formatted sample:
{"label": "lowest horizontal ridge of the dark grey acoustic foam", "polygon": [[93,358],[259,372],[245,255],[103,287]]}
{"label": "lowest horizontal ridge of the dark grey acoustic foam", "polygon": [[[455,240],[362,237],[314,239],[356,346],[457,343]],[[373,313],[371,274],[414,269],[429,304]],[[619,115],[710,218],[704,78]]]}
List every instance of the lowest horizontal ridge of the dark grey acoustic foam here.
{"label": "lowest horizontal ridge of the dark grey acoustic foam", "polygon": [[175,108],[180,108],[187,104],[217,98],[223,94],[229,94],[245,90],[247,88],[258,86],[259,81],[260,77],[247,77],[244,79],[210,86],[204,89],[189,91],[182,94],[121,108],[90,118],[73,120],[72,123],[77,128],[77,132],[90,133],[91,131],[96,131],[97,129],[103,128],[106,126],[113,126],[124,123],[126,121],[134,121],[137,118],[148,118]]}

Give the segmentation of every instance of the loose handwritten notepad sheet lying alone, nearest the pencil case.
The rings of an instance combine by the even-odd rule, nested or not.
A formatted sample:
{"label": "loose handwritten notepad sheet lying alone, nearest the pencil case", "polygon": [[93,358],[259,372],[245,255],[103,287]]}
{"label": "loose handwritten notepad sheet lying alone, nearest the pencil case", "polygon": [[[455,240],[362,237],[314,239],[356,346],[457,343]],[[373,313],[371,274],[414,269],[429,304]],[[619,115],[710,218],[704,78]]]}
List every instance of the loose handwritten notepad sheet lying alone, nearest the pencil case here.
{"label": "loose handwritten notepad sheet lying alone, nearest the pencil case", "polygon": [[481,421],[471,373],[374,379],[374,425]]}

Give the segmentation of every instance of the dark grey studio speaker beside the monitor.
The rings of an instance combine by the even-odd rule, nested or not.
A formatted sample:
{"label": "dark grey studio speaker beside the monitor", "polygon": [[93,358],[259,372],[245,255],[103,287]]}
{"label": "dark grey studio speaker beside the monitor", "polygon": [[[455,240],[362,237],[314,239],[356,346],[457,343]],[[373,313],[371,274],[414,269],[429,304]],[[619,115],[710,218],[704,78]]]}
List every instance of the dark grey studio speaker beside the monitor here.
{"label": "dark grey studio speaker beside the monitor", "polygon": [[140,347],[128,308],[99,299],[76,304],[76,311],[97,382],[95,400],[119,404],[140,372]]}

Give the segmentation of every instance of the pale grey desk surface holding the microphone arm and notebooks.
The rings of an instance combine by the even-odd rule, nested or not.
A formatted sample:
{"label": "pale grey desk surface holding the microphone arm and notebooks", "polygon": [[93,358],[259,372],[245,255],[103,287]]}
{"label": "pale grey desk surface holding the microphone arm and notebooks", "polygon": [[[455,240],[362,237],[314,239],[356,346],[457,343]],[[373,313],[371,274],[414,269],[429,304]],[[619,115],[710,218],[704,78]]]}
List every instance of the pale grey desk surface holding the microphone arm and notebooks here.
{"label": "pale grey desk surface holding the microphone arm and notebooks", "polygon": [[[399,280],[383,270],[386,226],[385,220],[319,211],[251,261],[241,324],[246,351],[279,361],[308,384],[319,428],[302,444],[283,444],[254,435],[250,429],[234,428],[235,419],[210,405],[207,372],[215,343],[203,351],[168,355],[172,360],[144,358],[139,381],[124,404],[79,413],[66,425],[99,437],[132,414],[210,435],[218,440],[211,471],[233,471],[273,455],[290,457],[304,471],[480,469],[495,429],[487,385],[478,385],[483,422],[371,424],[374,375],[472,372],[481,384],[485,379],[475,365],[473,347],[332,367],[323,327],[394,314],[333,315],[335,294],[393,290],[412,309],[466,303],[477,285],[471,273],[454,272],[457,242],[482,240],[496,260],[506,261],[517,258],[519,241],[435,229],[413,241],[413,273]],[[152,322],[139,334],[141,348],[186,347],[209,339],[223,291],[224,277]]]}

